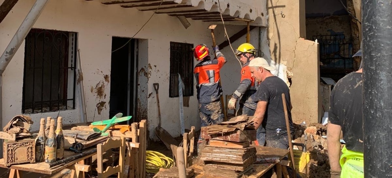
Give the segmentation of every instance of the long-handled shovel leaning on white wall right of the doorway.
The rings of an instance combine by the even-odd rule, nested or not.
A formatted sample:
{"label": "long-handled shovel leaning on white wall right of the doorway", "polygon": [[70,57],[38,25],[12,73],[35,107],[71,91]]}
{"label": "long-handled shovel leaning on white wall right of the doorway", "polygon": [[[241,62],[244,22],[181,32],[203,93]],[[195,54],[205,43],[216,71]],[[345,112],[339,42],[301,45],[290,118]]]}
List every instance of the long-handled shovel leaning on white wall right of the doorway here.
{"label": "long-handled shovel leaning on white wall right of the doorway", "polygon": [[155,135],[162,140],[162,142],[165,144],[165,146],[171,150],[170,145],[175,145],[178,146],[179,143],[177,140],[175,140],[172,135],[169,134],[168,131],[166,131],[164,128],[161,127],[162,124],[162,119],[161,119],[161,108],[159,106],[159,83],[154,83],[154,90],[156,93],[156,103],[158,105],[158,127],[155,127]]}

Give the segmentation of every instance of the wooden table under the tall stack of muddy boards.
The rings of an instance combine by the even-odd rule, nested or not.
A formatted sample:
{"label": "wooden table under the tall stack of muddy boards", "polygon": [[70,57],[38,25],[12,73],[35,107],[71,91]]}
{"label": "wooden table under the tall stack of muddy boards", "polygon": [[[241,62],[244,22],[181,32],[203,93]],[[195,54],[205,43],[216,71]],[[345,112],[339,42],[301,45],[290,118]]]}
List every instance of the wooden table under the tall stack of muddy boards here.
{"label": "wooden table under the tall stack of muddy boards", "polygon": [[[254,171],[247,175],[247,178],[261,178],[268,170],[270,170],[275,165],[277,165],[278,169],[285,169],[285,166],[282,165],[286,165],[287,162],[289,162],[281,161],[282,158],[289,155],[289,150],[257,145],[252,145],[251,147],[254,147],[256,149],[256,159],[260,163],[252,164]],[[195,164],[190,166],[189,169],[195,170],[195,178],[221,178],[220,176],[206,174],[203,170],[205,169],[204,165]]]}

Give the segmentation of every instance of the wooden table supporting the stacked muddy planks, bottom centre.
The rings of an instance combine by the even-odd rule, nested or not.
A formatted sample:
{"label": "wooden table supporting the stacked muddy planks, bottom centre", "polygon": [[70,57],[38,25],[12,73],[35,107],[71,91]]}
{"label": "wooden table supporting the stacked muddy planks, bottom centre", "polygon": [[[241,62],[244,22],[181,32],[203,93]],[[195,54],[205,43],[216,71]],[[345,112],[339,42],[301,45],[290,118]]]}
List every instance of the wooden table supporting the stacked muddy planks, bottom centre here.
{"label": "wooden table supporting the stacked muddy planks, bottom centre", "polygon": [[[280,148],[270,148],[264,146],[253,146],[257,150],[258,157],[264,158],[279,158],[282,159],[289,155],[289,150],[284,150]],[[247,178],[260,178],[267,171],[269,171],[277,162],[274,163],[264,163],[264,164],[253,164],[253,169],[255,170],[253,173],[247,176]],[[195,178],[217,178],[216,176],[204,175],[203,166],[201,165],[193,165],[189,168],[195,170]],[[279,169],[279,168],[278,168]],[[278,175],[279,176],[279,175]],[[281,176],[281,175],[280,175]]]}

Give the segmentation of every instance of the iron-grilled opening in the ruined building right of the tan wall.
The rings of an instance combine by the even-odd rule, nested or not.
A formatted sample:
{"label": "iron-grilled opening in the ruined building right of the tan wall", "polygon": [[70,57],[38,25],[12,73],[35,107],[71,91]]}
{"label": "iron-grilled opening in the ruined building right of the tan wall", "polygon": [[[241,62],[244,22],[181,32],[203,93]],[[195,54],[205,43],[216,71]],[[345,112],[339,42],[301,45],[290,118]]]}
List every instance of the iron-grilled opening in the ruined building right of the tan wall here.
{"label": "iron-grilled opening in the ruined building right of the tan wall", "polygon": [[321,68],[353,69],[353,45],[344,35],[313,36],[320,47]]}

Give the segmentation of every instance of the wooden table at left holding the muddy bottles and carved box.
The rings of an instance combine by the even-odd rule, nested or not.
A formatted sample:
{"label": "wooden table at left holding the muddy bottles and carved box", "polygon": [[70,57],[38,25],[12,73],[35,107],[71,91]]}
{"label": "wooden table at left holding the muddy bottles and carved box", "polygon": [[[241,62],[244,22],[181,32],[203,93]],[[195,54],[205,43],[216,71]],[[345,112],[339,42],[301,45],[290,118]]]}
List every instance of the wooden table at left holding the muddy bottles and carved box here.
{"label": "wooden table at left holding the muddy bottles and carved box", "polygon": [[[93,149],[93,148],[86,149],[85,151],[89,151],[90,149]],[[20,178],[19,171],[27,171],[27,172],[33,172],[33,173],[52,175],[54,173],[57,173],[57,172],[65,169],[65,168],[72,169],[73,170],[73,174],[74,174],[74,171],[76,169],[75,166],[74,166],[75,164],[77,164],[78,162],[79,163],[83,163],[83,161],[85,159],[91,158],[92,156],[94,156],[96,154],[97,153],[93,153],[93,154],[87,155],[85,157],[78,158],[78,159],[75,159],[73,161],[66,162],[66,163],[63,163],[63,164],[59,164],[59,165],[53,166],[53,167],[49,167],[49,164],[47,164],[45,162],[27,163],[27,164],[15,164],[15,165],[11,165],[10,167],[6,167],[4,165],[4,158],[2,158],[2,159],[0,159],[0,167],[2,167],[2,168],[10,168],[11,169],[10,174],[9,174],[9,178],[14,178],[15,174],[16,174],[17,178]],[[67,150],[64,151],[64,158],[72,157],[74,155],[78,155],[78,154],[74,153],[74,152],[71,152],[71,151],[67,151]],[[83,165],[80,165],[80,164],[79,164],[79,166],[83,167]],[[87,168],[87,167],[88,166],[86,165],[85,168]]]}

